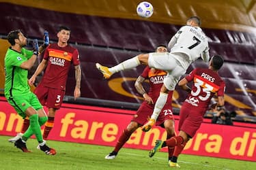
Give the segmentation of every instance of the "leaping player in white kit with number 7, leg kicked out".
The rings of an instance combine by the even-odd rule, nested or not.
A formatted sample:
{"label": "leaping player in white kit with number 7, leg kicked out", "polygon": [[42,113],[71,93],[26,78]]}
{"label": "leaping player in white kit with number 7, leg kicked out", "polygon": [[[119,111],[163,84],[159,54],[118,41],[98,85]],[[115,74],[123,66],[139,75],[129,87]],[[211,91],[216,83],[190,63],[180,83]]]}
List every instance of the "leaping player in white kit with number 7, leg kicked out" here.
{"label": "leaping player in white kit with number 7, leg kicked out", "polygon": [[197,16],[188,18],[186,26],[177,31],[169,41],[170,52],[139,54],[111,68],[96,63],[97,69],[102,72],[104,78],[110,78],[113,73],[132,69],[141,64],[168,72],[155,103],[153,114],[150,120],[144,124],[143,131],[148,131],[155,124],[162,107],[165,106],[169,91],[175,89],[177,82],[186,73],[189,65],[200,56],[203,61],[209,61],[208,37],[203,33],[200,25],[201,20]]}

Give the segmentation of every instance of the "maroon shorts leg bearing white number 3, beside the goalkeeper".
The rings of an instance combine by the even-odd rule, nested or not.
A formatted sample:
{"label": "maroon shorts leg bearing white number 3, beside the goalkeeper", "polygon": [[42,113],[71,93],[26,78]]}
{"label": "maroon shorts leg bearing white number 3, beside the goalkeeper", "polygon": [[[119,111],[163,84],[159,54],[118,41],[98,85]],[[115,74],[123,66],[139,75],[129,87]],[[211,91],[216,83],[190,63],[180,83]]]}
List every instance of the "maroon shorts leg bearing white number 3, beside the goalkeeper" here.
{"label": "maroon shorts leg bearing white number 3, beside the goalkeeper", "polygon": [[49,88],[46,106],[48,108],[59,109],[63,102],[64,95],[65,95],[65,90]]}

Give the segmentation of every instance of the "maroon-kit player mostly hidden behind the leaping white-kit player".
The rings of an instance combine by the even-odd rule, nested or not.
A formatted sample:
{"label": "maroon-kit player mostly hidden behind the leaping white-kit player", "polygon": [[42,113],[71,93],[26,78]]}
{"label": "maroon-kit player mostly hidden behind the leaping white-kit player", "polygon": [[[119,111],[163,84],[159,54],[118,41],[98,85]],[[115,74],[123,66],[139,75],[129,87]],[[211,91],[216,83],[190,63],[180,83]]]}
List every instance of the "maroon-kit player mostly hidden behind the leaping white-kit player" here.
{"label": "maroon-kit player mostly hidden behind the leaping white-kit player", "polygon": [[[167,52],[167,47],[160,44],[156,47],[156,52]],[[122,148],[122,146],[124,146],[124,143],[128,141],[132,133],[134,133],[134,131],[136,131],[140,126],[147,122],[147,118],[150,117],[154,109],[154,103],[156,102],[160,88],[163,83],[162,81],[164,80],[166,75],[166,71],[153,68],[150,69],[150,67],[147,66],[145,67],[143,73],[139,76],[139,78],[137,78],[135,82],[135,87],[137,91],[143,96],[144,101],[137,110],[137,113],[134,115],[134,118],[132,118],[130,124],[128,124],[126,129],[124,129],[124,131],[122,132],[122,135],[119,137],[113,152],[105,156],[106,159],[115,158],[119,150]],[[142,83],[145,82],[146,79],[150,80],[149,92],[146,92],[142,85]],[[167,103],[165,104],[162,112],[158,117],[158,120],[156,121],[156,125],[162,126],[166,129],[167,139],[175,136],[174,119],[171,106],[172,96],[173,91],[169,92]],[[169,147],[168,151],[170,160],[171,156],[173,156],[173,148]]]}

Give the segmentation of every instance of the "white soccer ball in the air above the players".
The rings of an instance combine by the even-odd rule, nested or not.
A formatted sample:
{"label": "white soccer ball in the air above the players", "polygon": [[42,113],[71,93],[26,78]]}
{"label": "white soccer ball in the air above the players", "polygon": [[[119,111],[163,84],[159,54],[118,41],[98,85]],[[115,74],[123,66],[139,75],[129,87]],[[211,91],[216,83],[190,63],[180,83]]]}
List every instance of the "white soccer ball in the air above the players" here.
{"label": "white soccer ball in the air above the players", "polygon": [[154,8],[151,3],[143,1],[137,6],[137,14],[143,18],[150,18],[154,12]]}

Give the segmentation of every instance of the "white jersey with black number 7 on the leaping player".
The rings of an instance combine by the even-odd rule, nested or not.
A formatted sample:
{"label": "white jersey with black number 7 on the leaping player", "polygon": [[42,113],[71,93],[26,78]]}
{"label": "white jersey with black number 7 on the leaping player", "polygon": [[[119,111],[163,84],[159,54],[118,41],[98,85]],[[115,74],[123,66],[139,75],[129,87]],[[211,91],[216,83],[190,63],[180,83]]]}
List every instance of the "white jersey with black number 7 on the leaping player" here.
{"label": "white jersey with black number 7 on the leaping player", "polygon": [[208,51],[208,37],[200,27],[184,26],[174,35],[177,38],[171,53],[181,52],[189,57],[192,63],[201,56],[202,52]]}

